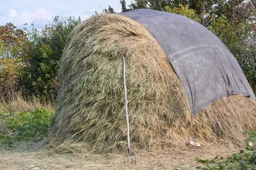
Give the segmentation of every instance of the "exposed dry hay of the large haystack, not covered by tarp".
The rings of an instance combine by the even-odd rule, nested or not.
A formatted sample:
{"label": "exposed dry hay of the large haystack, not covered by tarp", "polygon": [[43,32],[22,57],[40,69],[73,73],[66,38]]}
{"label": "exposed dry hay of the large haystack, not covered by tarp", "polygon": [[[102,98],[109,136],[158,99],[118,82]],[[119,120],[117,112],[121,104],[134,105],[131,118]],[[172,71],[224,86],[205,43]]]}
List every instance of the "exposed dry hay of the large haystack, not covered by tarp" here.
{"label": "exposed dry hay of the large haystack, not covered by tarp", "polygon": [[[93,16],[70,34],[61,59],[63,84],[51,136],[86,143],[95,153],[126,150],[123,56],[132,149],[184,147],[193,135],[183,86],[151,34],[118,14]],[[241,145],[242,119],[248,129],[256,125],[256,101],[241,95],[233,100],[238,114],[231,97],[224,97],[195,116],[197,142]]]}

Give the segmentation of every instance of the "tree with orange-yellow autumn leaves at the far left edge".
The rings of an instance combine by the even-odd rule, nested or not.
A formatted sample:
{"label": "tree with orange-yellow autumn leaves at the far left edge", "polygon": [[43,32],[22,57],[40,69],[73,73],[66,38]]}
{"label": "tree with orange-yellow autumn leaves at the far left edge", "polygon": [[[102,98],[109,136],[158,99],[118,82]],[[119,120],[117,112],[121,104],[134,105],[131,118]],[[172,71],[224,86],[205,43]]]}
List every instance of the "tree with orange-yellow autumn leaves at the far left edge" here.
{"label": "tree with orange-yellow autumn leaves at the far left edge", "polygon": [[0,26],[0,95],[14,97],[20,92],[21,56],[26,35],[12,23]]}

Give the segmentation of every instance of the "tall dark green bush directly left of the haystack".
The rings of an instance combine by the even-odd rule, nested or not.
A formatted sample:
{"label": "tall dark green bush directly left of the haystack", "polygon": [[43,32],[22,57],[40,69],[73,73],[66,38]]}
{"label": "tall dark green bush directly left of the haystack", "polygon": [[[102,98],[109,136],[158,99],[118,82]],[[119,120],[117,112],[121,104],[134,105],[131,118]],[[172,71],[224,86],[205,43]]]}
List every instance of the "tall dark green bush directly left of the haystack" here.
{"label": "tall dark green bush directly left of the haystack", "polygon": [[[110,7],[111,8],[111,7]],[[111,8],[110,10],[112,10]],[[48,100],[54,100],[58,93],[57,72],[59,60],[68,35],[81,22],[74,17],[54,17],[52,23],[30,30],[25,29],[29,43],[23,61],[23,86],[27,94],[40,94]]]}

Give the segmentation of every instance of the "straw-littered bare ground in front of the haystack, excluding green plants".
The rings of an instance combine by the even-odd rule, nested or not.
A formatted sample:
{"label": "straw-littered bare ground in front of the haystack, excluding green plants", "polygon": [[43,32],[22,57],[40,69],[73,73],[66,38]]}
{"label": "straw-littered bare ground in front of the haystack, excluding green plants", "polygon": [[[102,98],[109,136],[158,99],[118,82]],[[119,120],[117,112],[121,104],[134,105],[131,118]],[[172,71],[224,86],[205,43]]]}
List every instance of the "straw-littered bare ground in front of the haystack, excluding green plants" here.
{"label": "straw-littered bare ground in front of the haystack, excluding green plants", "polygon": [[[195,167],[203,166],[195,158],[212,159],[217,155],[224,157],[239,152],[239,148],[232,145],[202,145],[200,148],[190,149],[189,147],[178,150],[172,149],[166,153],[138,151],[136,155],[137,164],[123,163],[123,155],[108,153],[96,154],[57,154],[47,150],[33,150],[33,145],[28,147],[17,147],[11,149],[0,148],[0,170],[27,170],[34,164],[40,170],[116,170],[116,169],[138,169],[157,170],[175,169],[193,170]],[[25,167],[26,165],[26,167]]]}

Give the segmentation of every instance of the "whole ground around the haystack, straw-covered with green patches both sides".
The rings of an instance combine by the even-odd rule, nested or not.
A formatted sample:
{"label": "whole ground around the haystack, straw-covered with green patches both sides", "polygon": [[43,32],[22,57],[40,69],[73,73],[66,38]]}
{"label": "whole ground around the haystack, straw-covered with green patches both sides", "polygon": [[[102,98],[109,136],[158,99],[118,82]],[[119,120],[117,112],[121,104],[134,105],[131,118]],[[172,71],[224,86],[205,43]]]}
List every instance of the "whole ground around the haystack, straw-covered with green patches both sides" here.
{"label": "whole ground around the haystack, straw-covered with green patches both sides", "polygon": [[[123,153],[88,154],[86,143],[64,143],[49,136],[49,120],[54,112],[36,108],[30,112],[0,112],[8,131],[0,133],[0,170],[256,170],[256,129],[246,130],[241,148],[227,141],[201,143],[201,147],[162,150],[135,150],[137,165],[123,163]],[[253,142],[250,148],[247,142]],[[217,144],[218,143],[218,144]],[[133,145],[131,145],[133,146]],[[225,159],[226,158],[226,159]],[[25,166],[26,165],[26,166]],[[33,168],[32,168],[33,169]]]}

